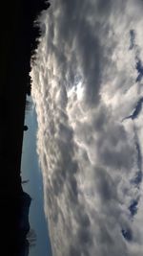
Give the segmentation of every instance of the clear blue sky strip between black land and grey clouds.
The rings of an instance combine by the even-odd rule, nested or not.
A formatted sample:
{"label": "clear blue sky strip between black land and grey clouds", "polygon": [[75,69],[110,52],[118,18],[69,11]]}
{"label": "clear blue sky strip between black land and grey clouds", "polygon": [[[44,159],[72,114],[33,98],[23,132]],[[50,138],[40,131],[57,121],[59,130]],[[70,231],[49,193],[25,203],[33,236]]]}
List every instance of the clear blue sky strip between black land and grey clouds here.
{"label": "clear blue sky strip between black land and grey clouds", "polygon": [[31,196],[29,221],[36,235],[34,246],[30,246],[29,256],[51,256],[48,223],[43,206],[43,181],[36,153],[36,114],[32,105],[30,109],[26,111],[25,124],[29,129],[24,133],[21,165],[22,180],[29,180],[23,184],[23,190]]}

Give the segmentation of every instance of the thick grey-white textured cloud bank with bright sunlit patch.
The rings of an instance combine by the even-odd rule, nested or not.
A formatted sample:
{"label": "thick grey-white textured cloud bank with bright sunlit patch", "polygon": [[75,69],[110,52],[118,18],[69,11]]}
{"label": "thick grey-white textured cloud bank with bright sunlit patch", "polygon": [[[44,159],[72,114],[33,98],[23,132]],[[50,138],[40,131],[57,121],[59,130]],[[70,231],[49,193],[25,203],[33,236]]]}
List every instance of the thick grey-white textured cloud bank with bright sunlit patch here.
{"label": "thick grey-white textured cloud bank with bright sunlit patch", "polygon": [[143,2],[58,0],[32,66],[53,256],[141,256]]}

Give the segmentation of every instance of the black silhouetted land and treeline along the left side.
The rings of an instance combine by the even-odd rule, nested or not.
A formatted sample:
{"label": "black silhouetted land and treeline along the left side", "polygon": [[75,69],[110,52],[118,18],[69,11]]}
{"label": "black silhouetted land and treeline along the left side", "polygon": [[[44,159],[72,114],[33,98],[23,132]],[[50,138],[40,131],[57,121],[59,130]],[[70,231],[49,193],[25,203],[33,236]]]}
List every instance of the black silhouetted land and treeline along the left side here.
{"label": "black silhouetted land and treeline along the left side", "polygon": [[[30,198],[21,184],[21,155],[25,124],[27,84],[31,84],[31,55],[41,34],[33,26],[39,12],[50,7],[44,0],[3,1],[0,40],[0,232],[1,252],[5,256],[29,253]],[[31,85],[30,85],[31,87]],[[22,212],[27,218],[21,228]],[[24,219],[23,219],[24,220]]]}

